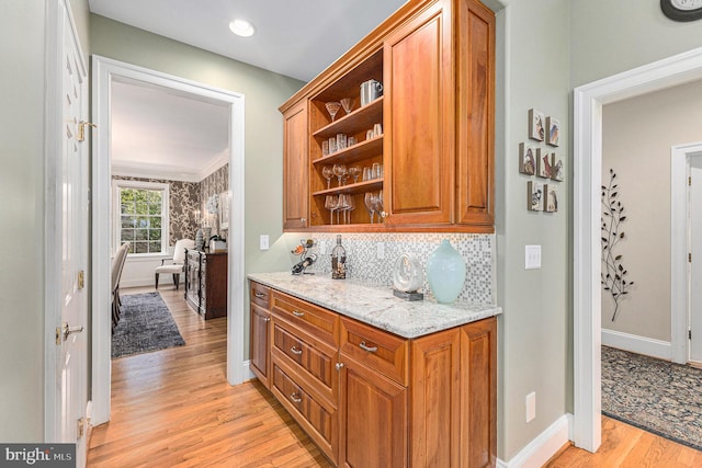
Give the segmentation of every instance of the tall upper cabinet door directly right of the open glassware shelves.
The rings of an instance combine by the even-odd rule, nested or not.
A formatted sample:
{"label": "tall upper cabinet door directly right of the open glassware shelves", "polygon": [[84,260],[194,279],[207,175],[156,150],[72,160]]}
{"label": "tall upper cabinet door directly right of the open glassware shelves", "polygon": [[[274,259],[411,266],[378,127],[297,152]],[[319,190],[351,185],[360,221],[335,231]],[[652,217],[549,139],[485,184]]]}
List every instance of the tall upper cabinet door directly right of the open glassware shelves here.
{"label": "tall upper cabinet door directly right of the open glassware shelves", "polygon": [[384,43],[388,225],[449,224],[453,212],[451,3],[432,3]]}

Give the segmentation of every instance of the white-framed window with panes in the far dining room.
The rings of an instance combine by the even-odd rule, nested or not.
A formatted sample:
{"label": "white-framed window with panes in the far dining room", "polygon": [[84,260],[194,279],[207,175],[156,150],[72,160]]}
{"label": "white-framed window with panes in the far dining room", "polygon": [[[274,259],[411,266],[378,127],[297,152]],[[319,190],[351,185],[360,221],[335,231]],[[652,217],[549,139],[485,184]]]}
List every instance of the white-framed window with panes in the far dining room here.
{"label": "white-framed window with panes in the far dining room", "polygon": [[116,244],[133,254],[168,252],[168,184],[114,181]]}

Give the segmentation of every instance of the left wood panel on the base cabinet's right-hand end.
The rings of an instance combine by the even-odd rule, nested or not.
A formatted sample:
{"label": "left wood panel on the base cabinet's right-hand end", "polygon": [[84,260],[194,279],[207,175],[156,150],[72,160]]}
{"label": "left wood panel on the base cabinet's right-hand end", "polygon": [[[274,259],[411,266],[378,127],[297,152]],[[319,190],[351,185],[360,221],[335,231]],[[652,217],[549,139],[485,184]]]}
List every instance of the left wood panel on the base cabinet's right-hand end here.
{"label": "left wood panel on the base cabinet's right-hand end", "polygon": [[410,457],[416,467],[461,463],[461,334],[451,329],[411,343]]}

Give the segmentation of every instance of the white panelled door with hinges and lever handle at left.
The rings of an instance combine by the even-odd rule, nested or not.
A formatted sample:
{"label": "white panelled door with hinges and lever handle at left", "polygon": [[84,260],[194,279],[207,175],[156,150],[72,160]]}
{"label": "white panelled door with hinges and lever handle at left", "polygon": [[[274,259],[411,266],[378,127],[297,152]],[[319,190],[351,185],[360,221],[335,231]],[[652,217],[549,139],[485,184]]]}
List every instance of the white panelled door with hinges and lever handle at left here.
{"label": "white panelled door with hinges and lever handle at left", "polygon": [[[80,141],[82,115],[86,115],[87,73],[82,53],[72,25],[67,1],[49,2],[56,5],[52,21],[55,31],[55,48],[49,49],[48,61],[58,69],[49,70],[48,79],[57,80],[55,112],[60,121],[47,128],[49,141],[49,195],[47,210],[53,210],[53,232],[49,232],[47,262],[53,274],[47,284],[52,300],[58,300],[47,313],[56,317],[56,352],[54,418],[50,430],[52,442],[76,443],[77,466],[86,465],[86,411],[88,402],[87,335],[83,331],[88,318],[88,289],[86,265],[88,260],[88,146]],[[59,132],[58,136],[52,133]],[[60,316],[60,317],[58,317]],[[52,409],[49,409],[52,410]],[[48,442],[48,441],[47,441]]]}

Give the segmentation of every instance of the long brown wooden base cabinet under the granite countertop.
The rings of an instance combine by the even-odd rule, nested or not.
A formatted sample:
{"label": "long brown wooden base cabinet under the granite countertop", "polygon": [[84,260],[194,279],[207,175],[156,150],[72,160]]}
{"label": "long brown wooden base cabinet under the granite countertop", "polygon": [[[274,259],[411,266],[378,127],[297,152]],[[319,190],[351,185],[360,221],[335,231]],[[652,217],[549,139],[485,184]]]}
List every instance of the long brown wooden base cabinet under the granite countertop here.
{"label": "long brown wooden base cabinet under the granite countertop", "polygon": [[496,466],[494,317],[405,339],[275,289],[251,317],[254,374],[333,465]]}

